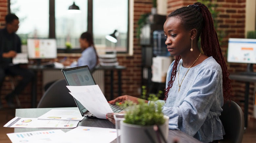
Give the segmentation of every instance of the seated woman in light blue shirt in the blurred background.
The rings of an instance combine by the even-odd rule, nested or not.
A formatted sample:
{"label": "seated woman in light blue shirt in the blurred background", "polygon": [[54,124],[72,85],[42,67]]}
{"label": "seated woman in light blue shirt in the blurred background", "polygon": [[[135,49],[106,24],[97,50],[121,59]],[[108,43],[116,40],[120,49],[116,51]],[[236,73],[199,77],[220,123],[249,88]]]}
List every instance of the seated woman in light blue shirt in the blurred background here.
{"label": "seated woman in light blue shirt in the blurred background", "polygon": [[89,32],[84,32],[81,34],[79,42],[82,50],[81,57],[74,62],[66,60],[63,62],[63,65],[71,67],[88,65],[90,70],[93,70],[98,63],[98,56],[94,47],[93,36]]}

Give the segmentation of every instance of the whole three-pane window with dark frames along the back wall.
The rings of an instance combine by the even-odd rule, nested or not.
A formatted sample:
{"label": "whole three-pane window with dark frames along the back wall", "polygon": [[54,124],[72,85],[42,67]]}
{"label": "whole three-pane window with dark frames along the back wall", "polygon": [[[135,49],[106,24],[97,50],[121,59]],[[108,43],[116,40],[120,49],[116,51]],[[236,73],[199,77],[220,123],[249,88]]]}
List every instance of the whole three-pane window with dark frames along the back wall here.
{"label": "whole three-pane window with dark frames along the back wall", "polygon": [[[51,3],[55,2],[55,7],[50,6],[49,0],[9,1],[11,13],[15,13],[20,19],[17,34],[23,44],[26,44],[27,38],[48,38],[50,33],[50,37],[56,38],[58,49],[65,49],[66,42],[70,42],[73,49],[79,49],[80,35],[85,31],[93,31],[96,48],[116,47],[117,52],[128,52],[129,0],[51,0]],[[81,13],[67,12],[73,2],[80,8]],[[88,11],[89,3],[93,7]],[[55,12],[53,19],[50,18],[49,11]],[[93,13],[90,16],[93,20],[88,21],[88,13]],[[53,24],[49,28],[49,22],[55,23],[55,26]],[[114,30],[118,31],[117,43],[105,39]]]}

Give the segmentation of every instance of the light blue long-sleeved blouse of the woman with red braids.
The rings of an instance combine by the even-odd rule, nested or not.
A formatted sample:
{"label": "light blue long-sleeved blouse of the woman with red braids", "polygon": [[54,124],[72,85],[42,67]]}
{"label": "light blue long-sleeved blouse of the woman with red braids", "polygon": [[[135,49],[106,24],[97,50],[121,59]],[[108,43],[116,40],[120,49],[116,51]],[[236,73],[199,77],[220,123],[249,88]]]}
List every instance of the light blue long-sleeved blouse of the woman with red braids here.
{"label": "light blue long-sleeved blouse of the woman with red braids", "polygon": [[[182,62],[179,62],[178,68]],[[166,88],[171,78],[174,62],[170,65]],[[180,67],[179,80],[188,68]],[[163,113],[170,117],[169,129],[182,132],[202,142],[223,139],[224,128],[219,116],[223,105],[223,82],[221,66],[213,57],[190,68],[179,92],[178,69],[172,88],[169,90]]]}

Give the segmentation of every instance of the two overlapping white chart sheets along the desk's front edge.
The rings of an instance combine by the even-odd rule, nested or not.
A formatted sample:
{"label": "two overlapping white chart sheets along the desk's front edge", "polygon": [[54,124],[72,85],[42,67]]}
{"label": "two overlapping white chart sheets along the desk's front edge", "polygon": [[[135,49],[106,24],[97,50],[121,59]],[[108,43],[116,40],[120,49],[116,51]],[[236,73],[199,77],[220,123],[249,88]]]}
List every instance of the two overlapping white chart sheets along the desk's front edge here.
{"label": "two overlapping white chart sheets along the desk's front edge", "polygon": [[117,138],[117,130],[78,126],[67,133],[61,130],[47,130],[7,135],[12,143],[110,143]]}

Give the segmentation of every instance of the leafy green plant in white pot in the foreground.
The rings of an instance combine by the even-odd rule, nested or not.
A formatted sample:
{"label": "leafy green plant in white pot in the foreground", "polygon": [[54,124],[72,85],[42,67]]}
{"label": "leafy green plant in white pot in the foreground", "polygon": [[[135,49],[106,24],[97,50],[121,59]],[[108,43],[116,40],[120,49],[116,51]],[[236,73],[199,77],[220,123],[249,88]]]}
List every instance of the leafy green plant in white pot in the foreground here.
{"label": "leafy green plant in white pot in the foreground", "polygon": [[151,94],[149,100],[155,102],[148,104],[139,99],[134,109],[126,112],[125,120],[120,123],[122,143],[166,142],[169,117],[162,113],[158,97]]}

